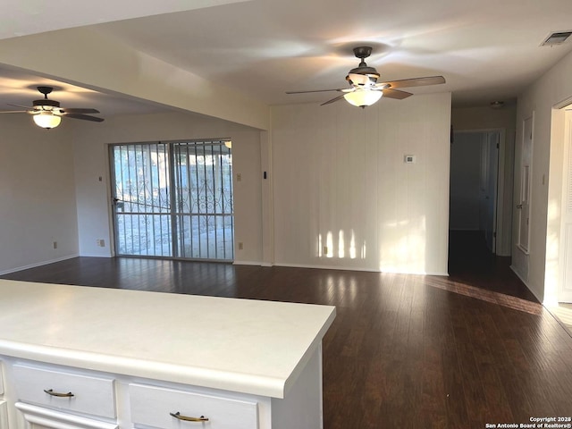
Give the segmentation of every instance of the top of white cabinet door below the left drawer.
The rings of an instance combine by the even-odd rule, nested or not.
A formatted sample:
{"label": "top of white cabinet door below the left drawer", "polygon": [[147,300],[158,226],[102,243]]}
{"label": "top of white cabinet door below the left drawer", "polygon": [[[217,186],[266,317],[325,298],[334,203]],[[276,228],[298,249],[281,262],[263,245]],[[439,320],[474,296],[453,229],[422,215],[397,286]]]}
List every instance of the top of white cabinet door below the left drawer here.
{"label": "top of white cabinet door below the left drawer", "polygon": [[118,425],[16,402],[24,429],[117,429]]}

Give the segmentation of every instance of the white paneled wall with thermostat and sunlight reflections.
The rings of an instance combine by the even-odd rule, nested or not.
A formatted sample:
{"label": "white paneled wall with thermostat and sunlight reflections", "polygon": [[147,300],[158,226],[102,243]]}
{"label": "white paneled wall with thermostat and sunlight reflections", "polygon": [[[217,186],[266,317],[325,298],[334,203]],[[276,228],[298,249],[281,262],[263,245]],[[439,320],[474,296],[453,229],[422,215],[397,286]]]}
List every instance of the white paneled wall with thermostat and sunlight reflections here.
{"label": "white paneled wall with thermostat and sunlight reflections", "polygon": [[277,265],[447,273],[450,93],[275,106],[272,130]]}

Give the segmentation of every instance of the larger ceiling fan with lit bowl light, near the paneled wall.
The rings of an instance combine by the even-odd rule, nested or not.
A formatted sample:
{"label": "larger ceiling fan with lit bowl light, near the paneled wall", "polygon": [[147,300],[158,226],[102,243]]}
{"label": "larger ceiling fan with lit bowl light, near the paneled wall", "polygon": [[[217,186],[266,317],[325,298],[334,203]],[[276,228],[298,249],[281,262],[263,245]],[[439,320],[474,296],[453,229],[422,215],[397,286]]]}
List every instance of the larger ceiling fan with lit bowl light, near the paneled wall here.
{"label": "larger ceiling fan with lit bowl light, near the paneled wall", "polygon": [[341,98],[345,98],[349,104],[364,108],[366,105],[373,105],[382,96],[402,100],[403,98],[413,95],[410,92],[401,91],[397,88],[421,87],[425,85],[439,85],[445,83],[445,78],[442,76],[426,76],[424,78],[378,82],[377,80],[380,77],[379,72],[373,67],[369,67],[365,61],[371,54],[372,48],[370,46],[358,46],[354,48],[354,55],[356,55],[361,61],[359,65],[355,69],[351,69],[348,72],[348,76],[346,76],[346,80],[348,80],[350,85],[349,88],[287,91],[286,94],[338,91],[343,94],[322,103],[322,105],[329,105],[341,100]]}

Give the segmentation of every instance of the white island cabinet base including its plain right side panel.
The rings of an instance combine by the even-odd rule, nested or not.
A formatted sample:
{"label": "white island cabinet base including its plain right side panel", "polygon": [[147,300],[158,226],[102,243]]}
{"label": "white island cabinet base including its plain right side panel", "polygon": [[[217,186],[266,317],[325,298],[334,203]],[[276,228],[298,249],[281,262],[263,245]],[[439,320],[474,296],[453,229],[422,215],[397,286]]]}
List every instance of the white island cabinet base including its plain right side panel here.
{"label": "white island cabinet base including its plain right side panel", "polygon": [[319,429],[321,357],[277,399],[5,356],[0,429]]}

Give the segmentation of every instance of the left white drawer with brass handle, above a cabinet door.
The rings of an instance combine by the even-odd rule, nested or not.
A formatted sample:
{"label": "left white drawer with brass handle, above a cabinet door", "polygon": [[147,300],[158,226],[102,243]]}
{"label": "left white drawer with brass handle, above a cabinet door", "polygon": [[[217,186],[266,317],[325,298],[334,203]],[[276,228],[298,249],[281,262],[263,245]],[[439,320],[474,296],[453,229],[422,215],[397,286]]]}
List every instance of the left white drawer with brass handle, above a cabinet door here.
{"label": "left white drawer with brass handle, above a cabinet door", "polygon": [[113,379],[24,365],[14,365],[13,374],[16,394],[23,402],[115,417]]}

